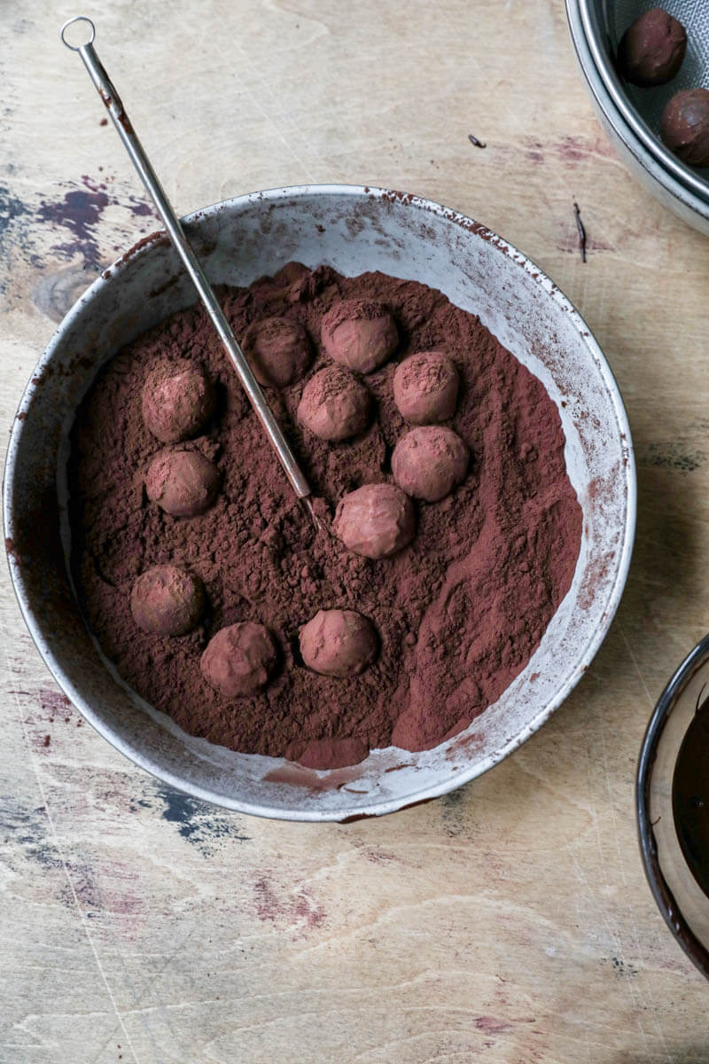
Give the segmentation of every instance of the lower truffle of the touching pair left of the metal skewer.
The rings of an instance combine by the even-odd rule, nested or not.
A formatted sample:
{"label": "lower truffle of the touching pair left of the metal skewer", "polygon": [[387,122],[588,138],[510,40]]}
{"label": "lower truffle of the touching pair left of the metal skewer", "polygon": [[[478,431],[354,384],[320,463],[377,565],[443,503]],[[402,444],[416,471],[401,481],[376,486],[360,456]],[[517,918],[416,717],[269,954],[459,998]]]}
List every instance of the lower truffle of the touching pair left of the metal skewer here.
{"label": "lower truffle of the touching pair left of the metal skewer", "polygon": [[148,469],[146,491],[166,514],[193,517],[216,499],[219,470],[199,451],[158,451]]}

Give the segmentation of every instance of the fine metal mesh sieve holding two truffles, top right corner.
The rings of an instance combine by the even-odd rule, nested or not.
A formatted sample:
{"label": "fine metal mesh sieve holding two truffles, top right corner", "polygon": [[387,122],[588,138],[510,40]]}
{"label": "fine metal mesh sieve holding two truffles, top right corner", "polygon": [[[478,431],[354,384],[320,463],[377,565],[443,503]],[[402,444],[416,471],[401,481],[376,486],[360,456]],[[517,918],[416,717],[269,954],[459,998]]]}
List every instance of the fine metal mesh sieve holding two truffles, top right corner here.
{"label": "fine metal mesh sieve holding two truffles, top right corner", "polygon": [[578,0],[578,10],[597,72],[635,134],[688,189],[709,200],[709,167],[682,163],[659,137],[662,111],[682,88],[709,88],[709,3],[707,0],[662,0],[662,6],[687,30],[687,54],[679,73],[666,85],[639,88],[619,78],[614,56],[625,30],[657,0]]}

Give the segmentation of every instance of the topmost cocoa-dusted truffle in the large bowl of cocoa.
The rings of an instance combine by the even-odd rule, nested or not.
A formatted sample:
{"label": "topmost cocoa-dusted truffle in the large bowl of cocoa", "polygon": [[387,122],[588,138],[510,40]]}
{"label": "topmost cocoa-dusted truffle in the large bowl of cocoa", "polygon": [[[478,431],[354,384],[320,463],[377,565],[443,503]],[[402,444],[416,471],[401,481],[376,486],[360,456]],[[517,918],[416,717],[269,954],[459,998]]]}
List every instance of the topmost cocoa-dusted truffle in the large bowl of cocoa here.
{"label": "topmost cocoa-dusted truffle in the large bowl of cocoa", "polygon": [[386,306],[372,299],[343,299],[321,323],[325,353],[358,373],[371,373],[396,350],[396,322]]}

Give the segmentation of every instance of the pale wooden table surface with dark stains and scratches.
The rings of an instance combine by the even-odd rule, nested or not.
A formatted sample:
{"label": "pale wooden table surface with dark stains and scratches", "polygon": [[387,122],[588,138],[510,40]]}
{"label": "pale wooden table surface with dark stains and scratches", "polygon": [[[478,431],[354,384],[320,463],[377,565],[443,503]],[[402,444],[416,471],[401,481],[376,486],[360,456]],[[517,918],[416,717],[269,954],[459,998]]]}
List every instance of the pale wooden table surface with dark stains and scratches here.
{"label": "pale wooden table surface with dark stains and scratches", "polygon": [[[73,13],[0,6],[7,427],[77,294],[155,228],[58,41]],[[709,1061],[708,987],[655,908],[632,804],[652,705],[709,617],[709,245],[614,157],[561,0],[86,14],[179,212],[281,184],[379,184],[535,259],[618,377],[639,527],[611,632],[554,719],[446,798],[349,826],[230,815],[133,767],[81,727],[3,568],[0,1060]]]}

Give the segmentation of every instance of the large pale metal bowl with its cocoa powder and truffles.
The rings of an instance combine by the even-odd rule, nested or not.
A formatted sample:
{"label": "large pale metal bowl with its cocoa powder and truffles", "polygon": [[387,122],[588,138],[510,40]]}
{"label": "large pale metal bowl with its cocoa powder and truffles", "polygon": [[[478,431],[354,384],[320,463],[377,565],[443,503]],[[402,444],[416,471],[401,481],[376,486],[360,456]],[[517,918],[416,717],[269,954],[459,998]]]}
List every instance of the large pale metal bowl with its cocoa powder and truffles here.
{"label": "large pale metal bowl with its cocoa powder and truffles", "polygon": [[443,794],[548,719],[614,614],[636,485],[608,364],[533,263],[427,200],[277,189],[186,228],[321,527],[155,234],[15,421],[30,631],[101,734],[197,797],[343,820]]}

